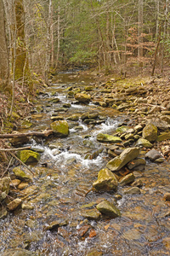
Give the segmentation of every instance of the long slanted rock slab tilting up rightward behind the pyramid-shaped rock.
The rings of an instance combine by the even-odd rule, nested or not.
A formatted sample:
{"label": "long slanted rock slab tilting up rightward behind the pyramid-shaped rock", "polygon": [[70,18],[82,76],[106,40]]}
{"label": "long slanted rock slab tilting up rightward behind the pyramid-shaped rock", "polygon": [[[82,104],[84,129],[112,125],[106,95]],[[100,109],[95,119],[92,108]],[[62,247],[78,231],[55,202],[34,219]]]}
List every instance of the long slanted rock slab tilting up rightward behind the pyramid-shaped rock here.
{"label": "long slanted rock slab tilting up rightward behind the pyramid-shaped rock", "polygon": [[123,150],[122,154],[109,161],[106,167],[112,172],[116,172],[125,166],[129,161],[137,158],[138,155],[139,148],[126,148]]}

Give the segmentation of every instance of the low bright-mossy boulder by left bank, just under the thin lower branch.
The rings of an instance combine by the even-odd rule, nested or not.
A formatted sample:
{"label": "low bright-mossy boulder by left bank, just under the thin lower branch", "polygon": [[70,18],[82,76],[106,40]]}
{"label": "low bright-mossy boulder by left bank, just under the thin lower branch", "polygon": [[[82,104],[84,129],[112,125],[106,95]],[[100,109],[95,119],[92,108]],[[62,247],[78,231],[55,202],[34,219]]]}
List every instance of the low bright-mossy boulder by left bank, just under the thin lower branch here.
{"label": "low bright-mossy boulder by left bank, just under the thin lower branch", "polygon": [[21,150],[18,152],[18,157],[25,164],[31,164],[40,160],[40,154],[31,150]]}

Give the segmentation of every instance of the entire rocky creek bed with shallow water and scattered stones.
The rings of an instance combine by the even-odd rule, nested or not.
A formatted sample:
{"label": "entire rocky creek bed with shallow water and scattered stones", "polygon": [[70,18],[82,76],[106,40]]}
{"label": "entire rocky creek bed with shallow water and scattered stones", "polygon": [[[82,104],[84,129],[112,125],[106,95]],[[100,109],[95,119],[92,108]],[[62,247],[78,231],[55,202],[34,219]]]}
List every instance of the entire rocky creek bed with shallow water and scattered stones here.
{"label": "entire rocky creek bed with shallow water and scattered stones", "polygon": [[60,74],[11,139],[28,166],[0,180],[1,255],[168,255],[168,80]]}

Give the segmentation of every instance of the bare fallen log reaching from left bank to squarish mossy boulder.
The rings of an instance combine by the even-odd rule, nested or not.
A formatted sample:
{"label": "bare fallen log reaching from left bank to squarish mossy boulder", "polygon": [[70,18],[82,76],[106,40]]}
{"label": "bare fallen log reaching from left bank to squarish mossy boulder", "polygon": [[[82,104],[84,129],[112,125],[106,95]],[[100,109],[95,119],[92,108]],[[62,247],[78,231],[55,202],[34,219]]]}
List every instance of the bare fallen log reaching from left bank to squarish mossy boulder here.
{"label": "bare fallen log reaching from left bank to squarish mossy boulder", "polygon": [[7,133],[7,134],[0,134],[0,138],[14,138],[14,137],[48,137],[49,135],[53,134],[52,130],[45,130],[45,131],[31,131],[25,133]]}

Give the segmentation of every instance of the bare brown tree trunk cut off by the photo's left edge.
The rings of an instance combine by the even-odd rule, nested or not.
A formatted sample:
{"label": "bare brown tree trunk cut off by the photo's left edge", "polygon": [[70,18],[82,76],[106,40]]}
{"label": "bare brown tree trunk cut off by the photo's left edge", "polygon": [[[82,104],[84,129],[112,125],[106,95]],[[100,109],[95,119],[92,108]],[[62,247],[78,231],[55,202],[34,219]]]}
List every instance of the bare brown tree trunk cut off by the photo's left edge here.
{"label": "bare brown tree trunk cut off by the photo's left edge", "polygon": [[0,0],[0,17],[0,90],[4,91],[8,88],[9,65],[3,0]]}

